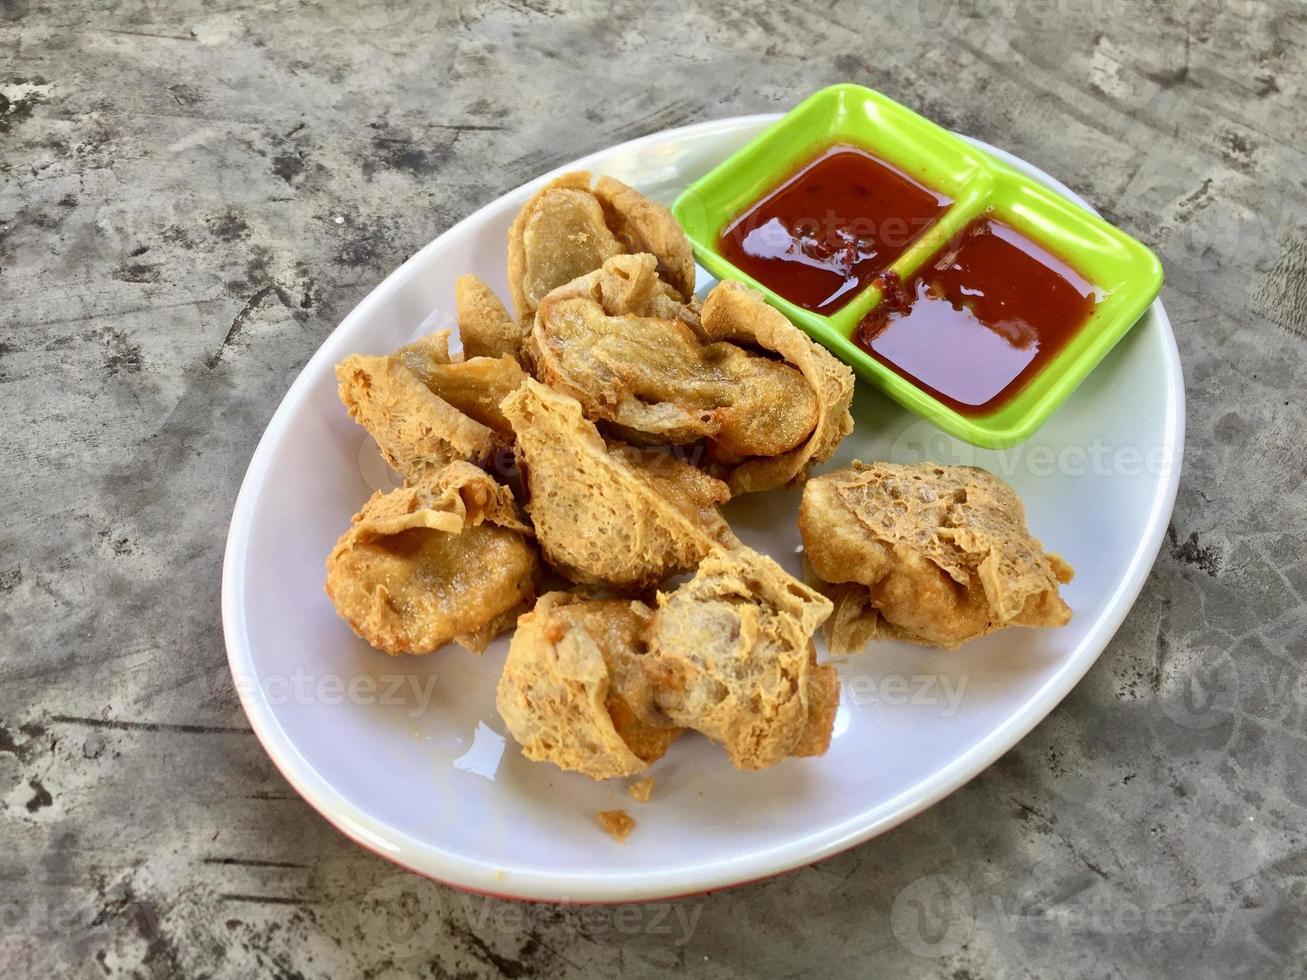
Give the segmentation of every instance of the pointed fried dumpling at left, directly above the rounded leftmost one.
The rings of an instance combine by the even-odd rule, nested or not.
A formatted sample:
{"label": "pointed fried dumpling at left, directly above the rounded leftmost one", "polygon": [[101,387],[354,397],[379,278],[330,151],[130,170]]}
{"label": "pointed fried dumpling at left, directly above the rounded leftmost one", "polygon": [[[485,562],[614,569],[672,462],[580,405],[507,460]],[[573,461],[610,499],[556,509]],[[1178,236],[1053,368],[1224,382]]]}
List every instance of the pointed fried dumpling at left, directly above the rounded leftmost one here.
{"label": "pointed fried dumpling at left, directly above the rounded leftmost one", "polygon": [[499,401],[525,372],[510,357],[454,363],[450,332],[392,354],[352,354],[336,365],[340,400],[405,480],[421,481],[454,460],[481,463],[511,442]]}

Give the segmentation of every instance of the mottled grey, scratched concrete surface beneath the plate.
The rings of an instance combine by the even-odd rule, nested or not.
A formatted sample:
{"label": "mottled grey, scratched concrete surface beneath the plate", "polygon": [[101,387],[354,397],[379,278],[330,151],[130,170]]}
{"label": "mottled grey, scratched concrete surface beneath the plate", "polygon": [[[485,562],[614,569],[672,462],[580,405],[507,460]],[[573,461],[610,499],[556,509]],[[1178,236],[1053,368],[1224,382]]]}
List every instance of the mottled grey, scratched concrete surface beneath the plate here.
{"label": "mottled grey, scratched concrete surface beneath the plate", "polygon": [[[1300,5],[0,0],[0,51],[9,975],[1302,970]],[[295,796],[230,687],[220,566],[259,433],[478,205],[846,80],[1162,256],[1188,448],[1137,606],[996,766],[814,868],[627,911],[397,873]]]}

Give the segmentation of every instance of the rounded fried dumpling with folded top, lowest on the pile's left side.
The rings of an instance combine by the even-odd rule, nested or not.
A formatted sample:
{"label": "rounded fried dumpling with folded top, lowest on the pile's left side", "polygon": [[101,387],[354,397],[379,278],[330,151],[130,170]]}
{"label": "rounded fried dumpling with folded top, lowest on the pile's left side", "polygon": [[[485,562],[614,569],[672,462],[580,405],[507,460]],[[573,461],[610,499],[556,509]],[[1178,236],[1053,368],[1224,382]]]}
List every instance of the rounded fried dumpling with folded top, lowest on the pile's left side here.
{"label": "rounded fried dumpling with folded top, lowest on the pile's left side", "polygon": [[471,463],[376,493],[327,558],[327,595],[387,653],[450,640],[481,652],[536,595],[531,529],[508,487]]}

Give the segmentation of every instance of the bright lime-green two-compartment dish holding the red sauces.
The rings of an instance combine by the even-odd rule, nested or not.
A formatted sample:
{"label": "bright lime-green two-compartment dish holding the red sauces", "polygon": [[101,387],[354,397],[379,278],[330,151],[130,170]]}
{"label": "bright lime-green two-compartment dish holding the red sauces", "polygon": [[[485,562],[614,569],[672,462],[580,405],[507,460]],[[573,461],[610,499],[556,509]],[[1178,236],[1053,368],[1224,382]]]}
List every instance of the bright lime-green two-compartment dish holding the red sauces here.
{"label": "bright lime-green two-compartment dish holding the red sauces", "polygon": [[[948,205],[924,226],[907,226],[907,240],[898,243],[897,257],[878,269],[877,277],[859,284],[836,302],[810,308],[812,303],[805,307],[793,302],[775,284],[769,285],[763,277],[740,268],[742,263],[732,263],[724,255],[729,251],[724,235],[769,196],[840,149],[869,154],[946,199]],[[1142,316],[1162,285],[1161,264],[1134,238],[983,149],[857,85],[835,85],[805,99],[686,188],[672,210],[695,257],[708,272],[759,289],[767,302],[861,378],[950,435],[985,448],[1014,446],[1038,430]],[[830,230],[830,209],[814,212],[812,223],[818,233],[823,226]],[[859,217],[834,216],[836,223],[842,221],[846,226],[856,223]],[[865,329],[868,316],[894,284],[907,284],[935,264],[949,261],[968,229],[985,221],[1012,229],[1033,244],[1031,251],[1056,256],[1090,284],[1093,295],[1086,318],[1065,332],[1065,342],[1056,350],[1044,351],[1038,370],[1014,378],[1001,397],[959,410],[955,401],[946,404],[940,392],[902,367],[874,357],[860,342],[864,340],[860,328]],[[889,222],[882,227],[889,227]],[[1039,298],[1031,297],[1031,303],[1038,308]],[[950,354],[962,357],[948,348],[938,355]]]}

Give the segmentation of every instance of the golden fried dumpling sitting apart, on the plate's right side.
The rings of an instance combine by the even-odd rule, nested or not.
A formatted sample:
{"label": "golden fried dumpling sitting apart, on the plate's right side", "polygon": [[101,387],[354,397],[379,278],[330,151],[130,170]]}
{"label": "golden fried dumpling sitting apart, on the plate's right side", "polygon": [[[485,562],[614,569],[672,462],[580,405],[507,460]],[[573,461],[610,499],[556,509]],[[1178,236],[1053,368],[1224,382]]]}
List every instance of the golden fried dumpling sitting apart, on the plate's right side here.
{"label": "golden fried dumpling sitting apart, on the plate's right side", "polygon": [[885,634],[953,648],[1004,626],[1064,626],[1073,568],[1044,554],[1017,494],[976,466],[853,463],[809,480],[799,531],[842,585],[830,648]]}

